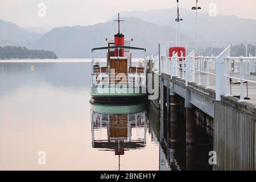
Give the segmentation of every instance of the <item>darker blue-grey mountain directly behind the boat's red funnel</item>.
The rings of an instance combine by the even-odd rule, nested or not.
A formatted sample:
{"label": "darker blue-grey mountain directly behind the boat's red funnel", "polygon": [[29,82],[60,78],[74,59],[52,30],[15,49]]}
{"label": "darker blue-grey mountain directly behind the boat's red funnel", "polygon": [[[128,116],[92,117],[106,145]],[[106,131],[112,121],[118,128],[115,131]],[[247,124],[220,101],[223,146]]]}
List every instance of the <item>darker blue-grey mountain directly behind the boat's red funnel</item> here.
{"label": "darker blue-grey mountain directly behind the boat's red funnel", "polygon": [[[122,33],[126,38],[133,38],[132,46],[147,48],[148,53],[158,52],[159,41],[174,41],[176,29],[142,21],[138,18],[123,18],[125,26]],[[106,46],[105,38],[113,39],[117,33],[114,22],[98,23],[93,26],[74,26],[53,28],[35,42],[32,48],[49,49],[59,57],[91,57],[93,47]],[[189,40],[182,35],[182,40]],[[106,57],[106,52],[98,56]]]}

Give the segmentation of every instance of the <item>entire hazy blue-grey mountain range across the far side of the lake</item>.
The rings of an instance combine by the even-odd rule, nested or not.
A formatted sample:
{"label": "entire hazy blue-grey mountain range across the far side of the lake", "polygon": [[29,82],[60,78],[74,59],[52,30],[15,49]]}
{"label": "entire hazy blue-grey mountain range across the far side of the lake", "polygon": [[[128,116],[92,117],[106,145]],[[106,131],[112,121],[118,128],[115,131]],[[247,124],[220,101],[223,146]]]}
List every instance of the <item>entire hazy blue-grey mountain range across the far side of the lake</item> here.
{"label": "entire hazy blue-grey mountain range across the far side of the lake", "polygon": [[[175,41],[176,8],[131,11],[121,13],[125,23],[121,24],[126,38],[133,38],[132,46],[145,47],[151,54],[158,53],[158,42]],[[195,40],[195,11],[180,9],[181,40]],[[0,20],[0,46],[26,46],[30,49],[54,51],[62,58],[91,57],[91,48],[106,46],[105,38],[113,39],[117,23],[113,16],[108,22],[92,26],[57,27],[48,31],[41,28],[21,28],[14,23]],[[45,34],[42,34],[46,32]],[[236,16],[210,17],[207,13],[198,15],[198,36],[201,41],[256,41],[256,20]],[[102,52],[99,56],[105,57]]]}

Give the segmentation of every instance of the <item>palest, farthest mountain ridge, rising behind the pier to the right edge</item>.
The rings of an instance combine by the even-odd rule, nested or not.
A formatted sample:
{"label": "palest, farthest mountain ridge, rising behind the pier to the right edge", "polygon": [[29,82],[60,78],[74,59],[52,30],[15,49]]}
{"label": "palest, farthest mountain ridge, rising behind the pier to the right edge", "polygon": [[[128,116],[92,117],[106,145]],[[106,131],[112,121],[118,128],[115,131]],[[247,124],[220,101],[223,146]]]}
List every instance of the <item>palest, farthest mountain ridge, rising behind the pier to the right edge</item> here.
{"label": "palest, farthest mountain ridge, rising behind the pier to the right edge", "polygon": [[[177,9],[160,9],[148,11],[122,12],[122,16],[133,16],[147,22],[177,26],[175,22]],[[110,21],[117,16],[110,18]],[[195,39],[195,11],[180,8],[181,32]],[[198,35],[203,41],[255,41],[256,40],[256,20],[238,18],[237,16],[217,15],[210,17],[208,13],[198,14]]]}

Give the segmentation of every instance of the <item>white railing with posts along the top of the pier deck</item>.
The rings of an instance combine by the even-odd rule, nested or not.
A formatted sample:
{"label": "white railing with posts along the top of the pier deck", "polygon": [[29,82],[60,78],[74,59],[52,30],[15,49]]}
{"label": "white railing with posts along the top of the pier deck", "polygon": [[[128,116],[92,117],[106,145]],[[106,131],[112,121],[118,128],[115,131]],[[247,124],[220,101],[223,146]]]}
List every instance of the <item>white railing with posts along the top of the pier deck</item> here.
{"label": "white railing with posts along the top of the pier deck", "polygon": [[[161,47],[161,45],[164,47]],[[184,43],[190,50],[190,43]],[[210,45],[214,43],[204,43]],[[223,45],[226,44],[224,48]],[[197,44],[199,45],[199,44]],[[216,100],[221,95],[231,96],[230,84],[240,84],[240,100],[244,100],[244,84],[256,84],[256,44],[255,43],[217,43],[216,47],[197,47],[186,56],[169,57],[171,43],[159,43],[160,74],[169,75],[216,90]],[[251,75],[251,73],[253,73]],[[249,77],[249,78],[246,78]]]}

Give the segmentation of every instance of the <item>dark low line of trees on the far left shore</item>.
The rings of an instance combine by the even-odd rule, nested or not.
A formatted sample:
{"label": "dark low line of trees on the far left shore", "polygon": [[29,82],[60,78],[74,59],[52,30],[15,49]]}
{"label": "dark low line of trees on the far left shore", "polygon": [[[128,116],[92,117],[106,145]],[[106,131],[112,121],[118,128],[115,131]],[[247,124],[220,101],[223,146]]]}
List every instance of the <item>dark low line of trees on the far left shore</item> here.
{"label": "dark low line of trees on the far left shore", "polygon": [[0,59],[58,59],[52,51],[30,50],[26,47],[0,46]]}

